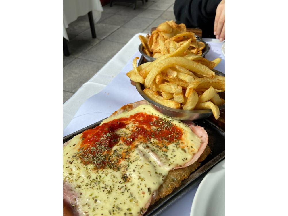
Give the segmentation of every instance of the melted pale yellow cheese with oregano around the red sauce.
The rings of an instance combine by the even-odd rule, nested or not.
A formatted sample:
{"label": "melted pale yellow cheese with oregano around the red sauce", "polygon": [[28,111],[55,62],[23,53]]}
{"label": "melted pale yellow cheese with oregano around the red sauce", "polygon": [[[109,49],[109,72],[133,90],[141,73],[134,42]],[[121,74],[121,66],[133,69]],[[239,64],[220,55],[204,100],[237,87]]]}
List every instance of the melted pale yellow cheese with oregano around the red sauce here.
{"label": "melted pale yellow cheese with oregano around the red sauce", "polygon": [[[143,214],[145,204],[153,192],[163,183],[169,170],[183,166],[190,161],[198,151],[201,139],[179,120],[171,119],[144,104],[119,115],[107,118],[103,123],[115,119],[127,118],[136,113],[154,115],[182,129],[180,140],[160,147],[159,141],[152,138],[149,141],[135,140],[133,148],[125,145],[124,139],[115,144],[111,151],[124,152],[130,147],[128,158],[119,160],[117,169],[96,169],[93,164],[83,164],[75,155],[83,145],[83,134],[75,136],[63,145],[63,182],[75,191],[77,210],[83,215],[139,215]],[[133,122],[125,128],[115,130],[115,133],[127,137],[131,134]],[[123,178],[124,176],[124,178]]]}

